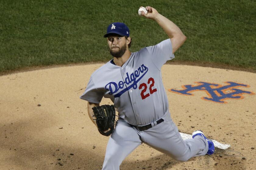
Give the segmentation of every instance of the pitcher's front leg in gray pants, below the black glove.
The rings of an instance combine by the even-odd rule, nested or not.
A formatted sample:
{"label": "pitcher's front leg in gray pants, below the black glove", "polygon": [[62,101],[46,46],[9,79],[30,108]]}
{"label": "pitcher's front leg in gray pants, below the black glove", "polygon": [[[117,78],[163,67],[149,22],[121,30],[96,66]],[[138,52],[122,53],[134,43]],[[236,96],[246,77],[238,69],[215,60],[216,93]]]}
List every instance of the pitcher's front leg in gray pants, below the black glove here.
{"label": "pitcher's front leg in gray pants, below the black glove", "polygon": [[141,143],[137,131],[125,121],[118,120],[108,140],[102,170],[119,170],[122,161]]}

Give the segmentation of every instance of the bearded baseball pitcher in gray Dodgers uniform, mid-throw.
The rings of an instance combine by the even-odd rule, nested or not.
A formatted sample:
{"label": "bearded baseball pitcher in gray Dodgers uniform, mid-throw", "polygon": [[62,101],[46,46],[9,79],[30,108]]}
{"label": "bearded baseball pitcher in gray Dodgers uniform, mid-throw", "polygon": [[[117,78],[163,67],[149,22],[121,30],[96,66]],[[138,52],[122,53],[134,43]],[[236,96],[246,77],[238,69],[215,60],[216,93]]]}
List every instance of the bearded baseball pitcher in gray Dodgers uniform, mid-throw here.
{"label": "bearded baseball pitcher in gray Dodgers uniform, mid-throw", "polygon": [[[80,96],[88,101],[89,117],[99,132],[111,135],[103,170],[118,170],[142,143],[179,161],[214,153],[213,142],[202,131],[194,131],[193,139],[182,139],[171,119],[162,83],[161,67],[174,58],[186,36],[156,9],[147,6],[146,10],[147,14],[142,11],[141,15],[157,22],[169,39],[132,53],[129,28],[124,23],[111,23],[104,37],[113,59],[91,75]],[[103,97],[110,98],[113,105],[100,106]],[[116,109],[119,117],[114,127]]]}

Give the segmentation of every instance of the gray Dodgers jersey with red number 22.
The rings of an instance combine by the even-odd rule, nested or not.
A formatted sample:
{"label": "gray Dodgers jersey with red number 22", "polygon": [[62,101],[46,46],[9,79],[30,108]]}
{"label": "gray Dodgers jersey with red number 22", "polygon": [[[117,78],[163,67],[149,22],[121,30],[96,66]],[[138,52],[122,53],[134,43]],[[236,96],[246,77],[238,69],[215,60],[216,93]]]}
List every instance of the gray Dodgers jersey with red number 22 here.
{"label": "gray Dodgers jersey with red number 22", "polygon": [[171,40],[166,39],[131,53],[122,67],[109,61],[91,75],[80,98],[92,103],[110,98],[119,117],[132,125],[154,122],[169,107],[161,67],[173,58]]}

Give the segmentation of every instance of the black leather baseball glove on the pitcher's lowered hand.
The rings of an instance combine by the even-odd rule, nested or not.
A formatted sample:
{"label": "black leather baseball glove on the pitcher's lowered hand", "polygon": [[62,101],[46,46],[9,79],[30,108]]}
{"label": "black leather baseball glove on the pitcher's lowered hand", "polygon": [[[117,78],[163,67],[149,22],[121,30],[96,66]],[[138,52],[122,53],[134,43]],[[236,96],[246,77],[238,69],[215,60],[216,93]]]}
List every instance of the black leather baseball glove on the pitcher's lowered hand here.
{"label": "black leather baseball glove on the pitcher's lowered hand", "polygon": [[[104,136],[111,135],[115,127],[116,107],[106,104],[93,107],[92,110],[93,117],[96,117],[94,120],[96,120],[98,131]],[[108,131],[108,129],[110,130]]]}

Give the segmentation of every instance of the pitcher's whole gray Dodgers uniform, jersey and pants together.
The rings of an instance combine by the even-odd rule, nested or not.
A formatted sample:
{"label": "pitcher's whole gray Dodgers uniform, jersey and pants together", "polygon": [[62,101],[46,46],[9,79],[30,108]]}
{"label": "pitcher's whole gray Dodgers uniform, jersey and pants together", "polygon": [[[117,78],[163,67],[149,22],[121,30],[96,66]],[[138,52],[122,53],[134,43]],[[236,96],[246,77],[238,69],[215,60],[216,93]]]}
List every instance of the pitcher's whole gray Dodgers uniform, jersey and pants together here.
{"label": "pitcher's whole gray Dodgers uniform, jersey and pants together", "polygon": [[[142,143],[180,161],[208,151],[207,141],[200,135],[183,141],[170,117],[161,67],[173,58],[172,43],[166,39],[132,53],[122,67],[109,61],[91,75],[80,98],[92,103],[100,103],[102,97],[110,98],[121,117],[108,140],[102,170],[119,170],[126,156]],[[163,122],[157,124],[160,118]],[[152,127],[139,131],[126,122],[151,123]]]}

